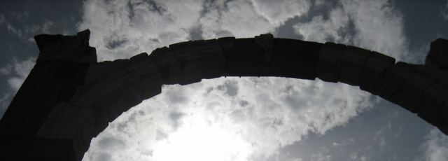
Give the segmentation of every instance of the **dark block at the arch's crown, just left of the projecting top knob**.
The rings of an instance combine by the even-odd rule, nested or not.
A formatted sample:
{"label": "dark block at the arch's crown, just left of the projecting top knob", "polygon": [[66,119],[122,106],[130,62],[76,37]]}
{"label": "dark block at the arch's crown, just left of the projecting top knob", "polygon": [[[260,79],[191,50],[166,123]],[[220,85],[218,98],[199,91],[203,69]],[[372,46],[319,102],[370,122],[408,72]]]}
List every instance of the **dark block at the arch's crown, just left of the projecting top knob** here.
{"label": "dark block at the arch's crown, just left of the projecting top knob", "polygon": [[264,50],[253,38],[237,38],[226,61],[229,76],[260,76],[264,59]]}

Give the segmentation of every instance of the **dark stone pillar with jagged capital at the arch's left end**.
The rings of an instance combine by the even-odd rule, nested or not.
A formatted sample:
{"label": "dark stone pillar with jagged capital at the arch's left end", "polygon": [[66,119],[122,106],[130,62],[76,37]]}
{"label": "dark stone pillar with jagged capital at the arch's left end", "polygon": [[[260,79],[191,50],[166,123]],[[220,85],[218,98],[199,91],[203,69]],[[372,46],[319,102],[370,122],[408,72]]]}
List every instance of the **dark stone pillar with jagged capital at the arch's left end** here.
{"label": "dark stone pillar with jagged capital at the arch's left end", "polygon": [[0,160],[76,160],[70,139],[37,137],[57,104],[69,102],[97,62],[90,31],[76,36],[41,34],[34,69],[15,94],[0,121]]}

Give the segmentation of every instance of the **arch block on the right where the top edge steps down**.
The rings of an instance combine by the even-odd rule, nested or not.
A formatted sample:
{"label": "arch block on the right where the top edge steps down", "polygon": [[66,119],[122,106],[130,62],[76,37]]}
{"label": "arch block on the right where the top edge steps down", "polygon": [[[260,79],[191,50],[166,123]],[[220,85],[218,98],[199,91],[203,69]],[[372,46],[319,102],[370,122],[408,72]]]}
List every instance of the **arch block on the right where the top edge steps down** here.
{"label": "arch block on the right where the top edge steps down", "polygon": [[363,73],[360,78],[360,89],[378,95],[384,72],[393,64],[395,64],[395,58],[379,52],[371,52],[363,66]]}

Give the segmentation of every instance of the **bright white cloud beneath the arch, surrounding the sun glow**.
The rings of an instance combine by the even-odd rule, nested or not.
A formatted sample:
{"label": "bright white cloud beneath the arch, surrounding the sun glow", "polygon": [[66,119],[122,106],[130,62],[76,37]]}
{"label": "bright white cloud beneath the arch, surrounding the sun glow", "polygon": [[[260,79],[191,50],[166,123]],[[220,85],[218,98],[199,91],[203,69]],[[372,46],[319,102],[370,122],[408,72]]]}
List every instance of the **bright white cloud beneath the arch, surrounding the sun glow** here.
{"label": "bright white cloud beneath the arch, surrounding the sun glow", "polygon": [[[173,91],[185,94],[179,99]],[[164,141],[158,135],[170,141],[179,130],[195,127],[195,119],[202,119],[199,123],[206,127],[218,126],[238,134],[242,140],[239,144],[251,145],[245,148],[246,153],[236,155],[239,158],[268,158],[309,132],[325,134],[333,127],[346,125],[350,118],[371,106],[367,92],[320,80],[228,77],[186,86],[167,85],[162,94],[132,108],[93,139],[85,160],[104,155],[98,146],[103,135],[116,136],[129,147],[123,153],[111,154],[113,158],[155,157],[162,153],[157,147]],[[177,125],[170,117],[174,112],[183,113],[176,119]],[[327,155],[315,158],[330,159]]]}

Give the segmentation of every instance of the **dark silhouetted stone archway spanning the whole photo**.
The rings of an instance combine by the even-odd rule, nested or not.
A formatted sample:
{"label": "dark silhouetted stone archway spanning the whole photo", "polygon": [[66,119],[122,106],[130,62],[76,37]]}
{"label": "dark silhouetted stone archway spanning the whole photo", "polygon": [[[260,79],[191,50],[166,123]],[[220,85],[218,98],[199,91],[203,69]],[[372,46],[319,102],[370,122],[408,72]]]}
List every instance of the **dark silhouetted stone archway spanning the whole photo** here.
{"label": "dark silhouetted stone archway spanning the whole photo", "polygon": [[[359,86],[448,134],[447,41],[426,64],[337,43],[262,34],[188,41],[151,55],[97,62],[90,31],[35,36],[37,63],[0,121],[1,160],[81,160],[92,137],[132,106],[161,92],[221,76],[276,76]],[[125,94],[123,94],[125,93]]]}

